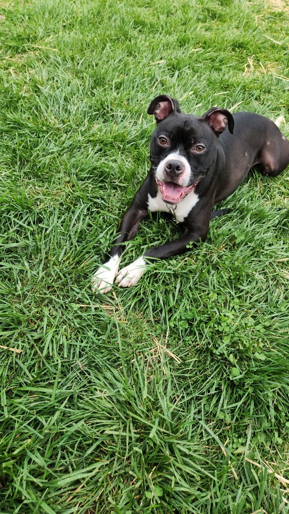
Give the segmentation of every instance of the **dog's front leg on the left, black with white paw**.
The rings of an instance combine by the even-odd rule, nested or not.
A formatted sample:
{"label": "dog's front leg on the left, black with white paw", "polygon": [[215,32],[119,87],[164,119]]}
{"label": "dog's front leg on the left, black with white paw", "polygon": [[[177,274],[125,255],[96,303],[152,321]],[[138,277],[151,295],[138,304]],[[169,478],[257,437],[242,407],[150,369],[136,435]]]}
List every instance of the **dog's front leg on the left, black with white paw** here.
{"label": "dog's front leg on the left, black with white paw", "polygon": [[138,208],[131,205],[130,209],[124,214],[121,224],[119,226],[119,235],[107,255],[105,263],[98,268],[94,273],[91,281],[93,292],[109,292],[112,288],[113,281],[118,272],[122,253],[122,243],[130,241],[139,227],[139,224],[143,218],[148,214],[146,209]]}

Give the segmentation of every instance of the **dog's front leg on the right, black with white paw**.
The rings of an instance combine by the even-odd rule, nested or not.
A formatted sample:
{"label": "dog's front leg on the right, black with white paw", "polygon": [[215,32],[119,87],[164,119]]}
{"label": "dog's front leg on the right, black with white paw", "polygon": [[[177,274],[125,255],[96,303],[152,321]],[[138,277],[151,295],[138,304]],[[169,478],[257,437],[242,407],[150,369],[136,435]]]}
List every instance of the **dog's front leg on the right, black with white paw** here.
{"label": "dog's front leg on the right, black with white paw", "polygon": [[118,285],[121,287],[134,286],[137,284],[140,277],[142,277],[143,273],[147,271],[150,263],[154,262],[156,259],[165,259],[171,255],[188,251],[187,245],[189,245],[189,243],[197,243],[200,239],[205,241],[207,232],[208,230],[202,232],[200,230],[186,230],[186,232],[175,241],[171,241],[166,245],[150,248],[145,254],[139,257],[139,259],[117,273],[116,281]]}

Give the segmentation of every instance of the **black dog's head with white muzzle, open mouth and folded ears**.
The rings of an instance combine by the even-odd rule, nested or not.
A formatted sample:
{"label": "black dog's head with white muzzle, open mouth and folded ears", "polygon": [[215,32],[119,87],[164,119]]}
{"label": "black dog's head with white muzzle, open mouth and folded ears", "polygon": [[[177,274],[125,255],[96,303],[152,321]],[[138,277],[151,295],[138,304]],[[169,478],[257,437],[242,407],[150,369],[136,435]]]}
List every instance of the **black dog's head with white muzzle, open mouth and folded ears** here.
{"label": "black dog's head with white muzzle, open mouth and folded ears", "polygon": [[157,96],[149,105],[156,128],[150,144],[150,161],[162,199],[178,204],[210,171],[218,138],[228,126],[234,130],[229,111],[212,107],[203,116],[183,114],[177,100]]}

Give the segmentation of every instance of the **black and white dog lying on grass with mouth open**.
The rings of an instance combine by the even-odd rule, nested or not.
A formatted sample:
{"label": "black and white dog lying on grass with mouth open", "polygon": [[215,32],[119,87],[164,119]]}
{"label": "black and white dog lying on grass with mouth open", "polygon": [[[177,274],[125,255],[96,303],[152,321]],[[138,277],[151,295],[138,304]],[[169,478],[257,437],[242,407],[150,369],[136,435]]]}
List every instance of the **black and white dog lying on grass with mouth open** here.
{"label": "black and white dog lying on grass with mouth open", "polygon": [[[92,278],[94,292],[110,291],[115,277],[119,286],[133,286],[155,259],[188,251],[190,243],[204,242],[214,217],[212,207],[235,191],[252,167],[276,177],[289,163],[289,141],[264,116],[232,115],[218,107],[200,117],[184,114],[178,101],[168,95],[157,96],[148,114],[156,120],[150,172],[122,218],[105,263]],[[122,243],[134,237],[149,211],[171,213],[182,224],[183,234],[149,248],[118,271]]]}

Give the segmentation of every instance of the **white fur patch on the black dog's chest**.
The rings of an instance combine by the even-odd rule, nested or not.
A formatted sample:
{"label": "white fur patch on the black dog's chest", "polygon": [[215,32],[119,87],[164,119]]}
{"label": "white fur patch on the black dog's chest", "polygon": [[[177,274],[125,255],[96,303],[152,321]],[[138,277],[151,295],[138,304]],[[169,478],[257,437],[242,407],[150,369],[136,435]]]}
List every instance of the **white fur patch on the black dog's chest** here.
{"label": "white fur patch on the black dog's chest", "polygon": [[180,202],[175,205],[169,205],[164,202],[164,200],[161,199],[161,192],[158,190],[157,195],[155,198],[152,198],[150,194],[148,194],[148,209],[151,212],[172,212],[173,215],[176,218],[176,221],[178,223],[182,223],[189,214],[189,212],[192,210],[192,208],[197,204],[198,202],[198,195],[195,194],[194,191],[191,191],[185,198],[180,200]]}

